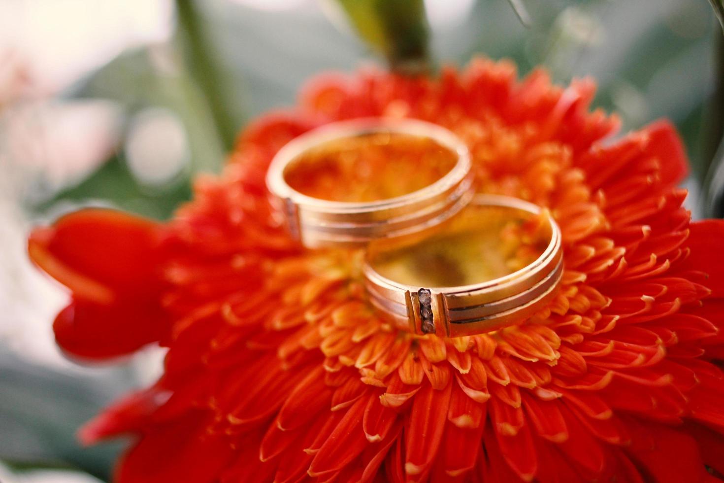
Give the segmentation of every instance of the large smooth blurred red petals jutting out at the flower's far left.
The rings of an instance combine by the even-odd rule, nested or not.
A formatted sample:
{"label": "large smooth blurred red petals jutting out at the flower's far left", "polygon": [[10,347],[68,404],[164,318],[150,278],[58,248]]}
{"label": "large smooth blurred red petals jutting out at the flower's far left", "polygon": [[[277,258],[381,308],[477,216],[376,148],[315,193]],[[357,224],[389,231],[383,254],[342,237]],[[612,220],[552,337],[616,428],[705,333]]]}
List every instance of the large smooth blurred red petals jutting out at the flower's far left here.
{"label": "large smooth blurred red petals jutting out at the flower's far left", "polygon": [[161,310],[161,229],[148,219],[85,209],[34,230],[28,252],[72,290],[54,323],[64,350],[84,358],[130,353],[159,340],[169,327]]}

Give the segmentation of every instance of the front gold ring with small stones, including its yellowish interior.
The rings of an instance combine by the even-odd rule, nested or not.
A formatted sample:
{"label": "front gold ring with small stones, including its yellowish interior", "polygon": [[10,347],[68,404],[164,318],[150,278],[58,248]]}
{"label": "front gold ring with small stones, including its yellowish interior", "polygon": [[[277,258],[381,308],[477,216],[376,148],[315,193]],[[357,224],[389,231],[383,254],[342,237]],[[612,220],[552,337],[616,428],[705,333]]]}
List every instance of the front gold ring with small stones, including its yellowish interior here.
{"label": "front gold ring with small stones, including its yellowish interior", "polygon": [[560,229],[539,206],[478,195],[426,232],[372,242],[363,273],[371,303],[400,329],[490,332],[522,322],[555,295]]}

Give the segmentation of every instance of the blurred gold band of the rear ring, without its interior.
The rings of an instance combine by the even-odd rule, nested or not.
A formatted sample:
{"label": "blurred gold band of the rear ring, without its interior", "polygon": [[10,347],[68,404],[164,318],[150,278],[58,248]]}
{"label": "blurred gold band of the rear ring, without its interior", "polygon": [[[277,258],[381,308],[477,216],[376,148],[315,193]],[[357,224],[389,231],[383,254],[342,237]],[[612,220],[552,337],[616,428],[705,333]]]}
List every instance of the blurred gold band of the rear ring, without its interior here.
{"label": "blurred gold band of the rear ring, without its interior", "polygon": [[[329,201],[301,193],[287,182],[295,163],[314,150],[330,143],[345,146],[368,135],[386,134],[429,140],[453,156],[454,165],[420,189],[372,201]],[[408,167],[405,176],[414,177],[416,169],[414,165]],[[274,156],[266,185],[274,195],[272,203],[285,214],[292,236],[307,248],[361,246],[376,238],[418,232],[452,217],[474,196],[470,154],[465,143],[444,127],[415,119],[354,119],[300,135]]]}

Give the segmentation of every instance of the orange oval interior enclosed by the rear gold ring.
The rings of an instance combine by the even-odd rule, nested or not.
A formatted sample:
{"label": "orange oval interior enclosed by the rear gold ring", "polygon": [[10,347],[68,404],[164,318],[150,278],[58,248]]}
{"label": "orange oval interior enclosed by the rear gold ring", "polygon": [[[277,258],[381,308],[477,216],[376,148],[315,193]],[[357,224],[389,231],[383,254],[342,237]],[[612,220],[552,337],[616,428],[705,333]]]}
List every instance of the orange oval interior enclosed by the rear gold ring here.
{"label": "orange oval interior enclosed by the rear gold ring", "polygon": [[303,152],[285,167],[293,190],[327,201],[365,203],[432,185],[458,161],[432,138],[375,131],[337,138]]}

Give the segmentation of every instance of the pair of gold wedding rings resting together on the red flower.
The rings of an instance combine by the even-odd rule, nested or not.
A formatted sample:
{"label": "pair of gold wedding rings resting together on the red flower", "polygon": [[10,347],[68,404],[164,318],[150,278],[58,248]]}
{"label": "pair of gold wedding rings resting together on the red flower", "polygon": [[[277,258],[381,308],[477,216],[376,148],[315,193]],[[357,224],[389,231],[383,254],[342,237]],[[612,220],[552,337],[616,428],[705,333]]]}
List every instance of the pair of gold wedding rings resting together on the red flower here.
{"label": "pair of gold wedding rings resting together on the red flower", "polygon": [[548,211],[476,195],[466,144],[428,122],[325,125],[287,143],[266,183],[307,248],[366,247],[369,300],[400,329],[459,337],[521,323],[563,274]]}

